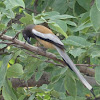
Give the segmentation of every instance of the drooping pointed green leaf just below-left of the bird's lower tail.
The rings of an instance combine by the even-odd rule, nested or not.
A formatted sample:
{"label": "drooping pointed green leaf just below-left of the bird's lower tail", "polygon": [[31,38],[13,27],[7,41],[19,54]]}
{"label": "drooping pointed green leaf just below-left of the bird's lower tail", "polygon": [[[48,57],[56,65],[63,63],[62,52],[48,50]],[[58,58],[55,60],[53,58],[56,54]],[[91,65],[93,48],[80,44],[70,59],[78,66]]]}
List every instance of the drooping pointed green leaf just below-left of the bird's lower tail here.
{"label": "drooping pointed green leaf just below-left of the bird's lower tail", "polygon": [[77,95],[76,81],[73,78],[70,71],[66,72],[66,77],[65,77],[65,80],[64,80],[64,86],[65,86],[65,89],[68,91],[68,93],[70,95],[72,95],[74,97]]}

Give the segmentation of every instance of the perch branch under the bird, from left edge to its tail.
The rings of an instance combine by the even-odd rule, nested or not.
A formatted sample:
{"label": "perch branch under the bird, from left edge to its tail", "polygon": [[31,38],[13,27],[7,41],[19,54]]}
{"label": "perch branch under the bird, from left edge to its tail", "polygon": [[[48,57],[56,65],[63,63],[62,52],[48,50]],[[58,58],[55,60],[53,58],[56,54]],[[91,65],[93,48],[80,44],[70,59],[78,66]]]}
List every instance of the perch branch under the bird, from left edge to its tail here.
{"label": "perch branch under the bird, from left edge to its tail", "polygon": [[10,37],[10,36],[7,36],[7,35],[3,35],[3,36],[1,36],[0,38],[3,39],[3,40],[12,41],[14,44],[17,44],[17,45],[19,45],[19,46],[22,46],[22,47],[23,47],[24,49],[26,49],[26,50],[29,50],[29,51],[31,51],[31,52],[33,52],[33,53],[36,52],[36,53],[39,54],[39,55],[42,55],[42,56],[45,56],[45,57],[47,57],[47,58],[56,60],[56,61],[58,61],[58,62],[60,62],[60,63],[62,63],[62,64],[65,65],[65,63],[64,63],[61,59],[58,59],[58,58],[56,57],[56,55],[54,55],[54,54],[52,54],[52,53],[50,53],[50,52],[44,52],[44,51],[43,51],[42,49],[40,49],[39,47],[32,46],[32,45],[30,45],[30,44],[27,44],[27,43],[25,43],[25,42],[22,42],[22,41],[20,41],[20,40],[17,40],[16,38],[13,39],[13,37]]}

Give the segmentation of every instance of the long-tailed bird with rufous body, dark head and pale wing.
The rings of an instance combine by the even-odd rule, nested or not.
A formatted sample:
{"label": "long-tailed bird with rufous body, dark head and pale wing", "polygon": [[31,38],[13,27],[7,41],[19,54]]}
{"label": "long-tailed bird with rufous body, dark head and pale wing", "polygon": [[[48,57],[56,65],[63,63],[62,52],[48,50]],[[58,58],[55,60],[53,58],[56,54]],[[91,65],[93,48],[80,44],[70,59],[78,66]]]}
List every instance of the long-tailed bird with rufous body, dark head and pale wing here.
{"label": "long-tailed bird with rufous body, dark head and pale wing", "polygon": [[47,27],[43,25],[27,25],[22,31],[24,39],[31,44],[30,38],[34,38],[39,41],[45,48],[56,49],[66,65],[77,75],[80,81],[85,85],[85,87],[94,94],[93,87],[87,82],[84,76],[77,69],[73,61],[70,59],[68,54],[65,52],[64,44],[61,40]]}

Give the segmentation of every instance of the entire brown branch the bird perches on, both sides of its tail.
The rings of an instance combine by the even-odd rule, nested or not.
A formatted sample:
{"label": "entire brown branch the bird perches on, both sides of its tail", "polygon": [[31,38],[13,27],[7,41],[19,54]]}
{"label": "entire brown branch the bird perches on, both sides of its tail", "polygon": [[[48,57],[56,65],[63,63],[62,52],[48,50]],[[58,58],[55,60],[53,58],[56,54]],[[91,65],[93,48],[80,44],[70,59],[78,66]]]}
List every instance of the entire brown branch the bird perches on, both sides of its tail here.
{"label": "entire brown branch the bird perches on, both sides of its tail", "polygon": [[[28,50],[28,51],[31,51],[31,52],[33,52],[33,53],[34,53],[34,52],[37,53],[38,55],[45,56],[45,57],[47,57],[47,58],[49,58],[49,59],[52,59],[52,60],[54,60],[54,61],[58,61],[58,62],[61,63],[61,67],[65,67],[65,66],[66,66],[65,62],[62,61],[61,59],[58,59],[58,58],[56,57],[56,55],[54,55],[54,54],[52,54],[52,53],[50,53],[50,52],[44,52],[44,51],[43,51],[42,49],[40,49],[39,47],[32,46],[32,45],[30,45],[30,44],[27,44],[27,43],[25,43],[25,42],[22,42],[22,41],[20,41],[20,40],[18,40],[18,39],[16,39],[16,38],[14,39],[13,37],[10,37],[10,36],[7,36],[7,35],[2,35],[0,38],[3,39],[3,40],[11,41],[11,42],[13,42],[14,44],[16,44],[16,45],[18,45],[18,46],[20,46],[20,47],[22,47],[22,48],[24,48],[24,49],[26,49],[26,50]],[[14,45],[14,46],[16,46],[16,45]],[[35,56],[34,56],[34,57],[35,57]],[[54,63],[54,62],[52,62],[52,61],[46,61],[46,62],[48,62],[48,63],[53,63],[53,64],[55,64],[55,65],[58,65],[58,64],[56,64],[56,63]],[[87,67],[85,67],[85,66],[79,66],[79,67],[80,67],[80,71],[81,71],[81,72],[86,73],[87,75],[90,75],[90,76],[94,76],[94,74],[95,74],[94,69],[90,69],[90,68],[87,68]]]}

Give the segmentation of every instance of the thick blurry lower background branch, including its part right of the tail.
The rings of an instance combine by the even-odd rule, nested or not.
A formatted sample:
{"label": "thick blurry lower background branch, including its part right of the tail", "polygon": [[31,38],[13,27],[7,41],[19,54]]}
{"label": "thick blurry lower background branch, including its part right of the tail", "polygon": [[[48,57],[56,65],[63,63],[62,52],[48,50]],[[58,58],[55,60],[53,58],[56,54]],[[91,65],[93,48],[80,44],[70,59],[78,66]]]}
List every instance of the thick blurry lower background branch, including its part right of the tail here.
{"label": "thick blurry lower background branch, including its part right of the tail", "polygon": [[[97,82],[95,81],[94,77],[90,76],[84,76],[85,79],[92,85],[92,86],[98,86]],[[27,84],[29,87],[33,86],[41,86],[42,84],[49,84],[49,74],[44,73],[42,77],[39,79],[39,81],[35,81],[35,76],[33,75],[31,79],[27,81],[27,84],[24,80],[20,80],[19,78],[12,78],[10,79],[12,82],[12,85],[14,88],[18,87],[27,87]]]}

